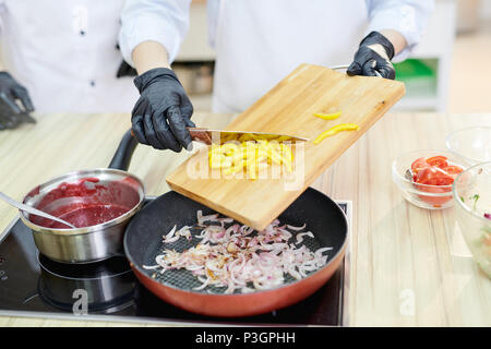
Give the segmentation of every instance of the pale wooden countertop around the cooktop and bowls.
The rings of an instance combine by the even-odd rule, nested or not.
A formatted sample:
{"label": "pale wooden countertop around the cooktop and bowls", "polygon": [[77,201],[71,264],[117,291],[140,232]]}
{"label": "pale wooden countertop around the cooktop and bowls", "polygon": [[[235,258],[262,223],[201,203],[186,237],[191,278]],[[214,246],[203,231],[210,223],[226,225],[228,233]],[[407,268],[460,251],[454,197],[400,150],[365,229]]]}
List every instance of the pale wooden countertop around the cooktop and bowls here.
{"label": "pale wooden countertop around the cooktop and bowls", "polygon": [[[203,127],[233,116],[195,113]],[[73,170],[106,167],[128,115],[37,115],[36,125],[0,132],[0,190],[22,200],[35,185]],[[445,135],[491,125],[491,115],[387,113],[314,183],[351,200],[350,326],[491,326],[491,280],[476,266],[454,209],[407,203],[392,182],[391,164],[412,149],[444,149]],[[168,191],[166,174],[188,155],[139,146],[130,171],[148,195]],[[0,203],[0,232],[16,209]],[[0,316],[0,326],[155,325]]]}

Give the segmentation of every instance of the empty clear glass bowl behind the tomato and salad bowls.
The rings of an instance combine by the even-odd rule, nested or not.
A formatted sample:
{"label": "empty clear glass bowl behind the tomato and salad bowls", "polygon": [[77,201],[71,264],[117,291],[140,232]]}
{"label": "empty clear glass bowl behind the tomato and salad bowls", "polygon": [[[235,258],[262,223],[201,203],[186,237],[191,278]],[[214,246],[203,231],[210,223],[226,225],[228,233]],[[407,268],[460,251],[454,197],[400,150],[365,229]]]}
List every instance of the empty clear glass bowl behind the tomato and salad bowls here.
{"label": "empty clear glass bowl behind the tomato and salad bowls", "polygon": [[446,147],[470,165],[491,161],[491,127],[466,128],[446,136]]}

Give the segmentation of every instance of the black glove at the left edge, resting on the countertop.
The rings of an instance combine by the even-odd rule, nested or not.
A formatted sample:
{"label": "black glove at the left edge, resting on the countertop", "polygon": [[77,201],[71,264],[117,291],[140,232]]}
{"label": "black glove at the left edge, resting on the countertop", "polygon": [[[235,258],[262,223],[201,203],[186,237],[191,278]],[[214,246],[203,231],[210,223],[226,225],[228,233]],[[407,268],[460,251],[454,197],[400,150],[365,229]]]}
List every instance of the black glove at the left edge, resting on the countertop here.
{"label": "black glove at the left edge, resting on the countertop", "polygon": [[[16,104],[21,100],[22,108]],[[27,89],[8,72],[0,72],[0,130],[15,129],[22,122],[34,123],[29,112],[34,111]]]}

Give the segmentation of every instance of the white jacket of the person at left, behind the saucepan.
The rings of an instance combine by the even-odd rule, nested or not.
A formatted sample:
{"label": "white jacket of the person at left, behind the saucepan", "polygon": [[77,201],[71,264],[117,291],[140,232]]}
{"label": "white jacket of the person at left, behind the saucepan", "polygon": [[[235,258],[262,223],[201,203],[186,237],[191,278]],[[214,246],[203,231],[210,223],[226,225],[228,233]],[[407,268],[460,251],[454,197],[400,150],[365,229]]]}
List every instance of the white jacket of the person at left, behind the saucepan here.
{"label": "white jacket of the person at left, behind the saucepan", "polygon": [[139,92],[117,79],[123,0],[0,0],[2,69],[37,112],[130,112]]}

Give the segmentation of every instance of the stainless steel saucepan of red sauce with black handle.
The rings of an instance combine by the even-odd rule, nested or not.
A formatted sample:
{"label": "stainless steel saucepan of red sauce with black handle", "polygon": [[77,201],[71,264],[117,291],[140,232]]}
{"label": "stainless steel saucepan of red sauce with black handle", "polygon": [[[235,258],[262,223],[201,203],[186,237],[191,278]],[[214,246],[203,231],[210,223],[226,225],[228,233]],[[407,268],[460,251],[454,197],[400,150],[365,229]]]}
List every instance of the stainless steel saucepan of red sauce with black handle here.
{"label": "stainless steel saucepan of red sauce with black handle", "polygon": [[25,195],[24,204],[77,227],[21,210],[43,255],[62,263],[92,263],[123,253],[125,226],[145,198],[143,182],[127,171],[136,145],[128,131],[108,168],[70,172]]}

